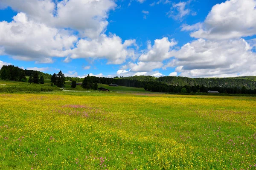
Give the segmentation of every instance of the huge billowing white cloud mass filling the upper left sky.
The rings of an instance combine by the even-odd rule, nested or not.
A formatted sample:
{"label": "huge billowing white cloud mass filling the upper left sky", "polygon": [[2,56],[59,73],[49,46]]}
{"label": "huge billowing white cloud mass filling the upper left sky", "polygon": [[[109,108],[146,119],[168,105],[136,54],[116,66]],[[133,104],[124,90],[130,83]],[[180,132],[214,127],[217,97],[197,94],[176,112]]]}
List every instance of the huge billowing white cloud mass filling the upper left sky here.
{"label": "huge billowing white cloud mass filling the upper left sky", "polygon": [[0,6],[20,11],[12,22],[0,22],[0,53],[14,59],[52,63],[52,57],[66,57],[64,62],[92,57],[120,64],[134,57],[135,40],[102,34],[108,11],[116,7],[113,0],[1,0]]}

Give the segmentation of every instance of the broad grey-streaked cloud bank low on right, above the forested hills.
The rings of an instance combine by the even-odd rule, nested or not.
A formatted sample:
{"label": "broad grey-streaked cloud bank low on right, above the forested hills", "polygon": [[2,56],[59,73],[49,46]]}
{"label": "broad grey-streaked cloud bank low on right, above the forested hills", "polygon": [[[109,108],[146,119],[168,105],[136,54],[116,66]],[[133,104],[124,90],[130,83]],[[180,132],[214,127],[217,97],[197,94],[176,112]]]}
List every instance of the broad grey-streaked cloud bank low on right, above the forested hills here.
{"label": "broad grey-streaked cloud bank low on right, above the forested hills", "polygon": [[256,54],[244,40],[198,39],[171,52],[172,66],[186,77],[230,77],[255,74]]}

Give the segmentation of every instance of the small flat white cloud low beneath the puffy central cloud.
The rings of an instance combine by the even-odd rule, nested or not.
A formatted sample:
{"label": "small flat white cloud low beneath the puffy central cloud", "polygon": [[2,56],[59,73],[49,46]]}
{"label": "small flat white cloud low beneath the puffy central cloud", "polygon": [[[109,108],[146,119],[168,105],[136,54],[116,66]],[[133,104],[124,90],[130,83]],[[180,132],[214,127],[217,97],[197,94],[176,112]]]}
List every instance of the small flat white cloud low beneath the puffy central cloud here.
{"label": "small flat white cloud low beneath the puffy central cloud", "polygon": [[122,66],[123,69],[130,68],[133,72],[150,72],[156,68],[161,68],[163,66],[162,62],[129,62],[127,65]]}

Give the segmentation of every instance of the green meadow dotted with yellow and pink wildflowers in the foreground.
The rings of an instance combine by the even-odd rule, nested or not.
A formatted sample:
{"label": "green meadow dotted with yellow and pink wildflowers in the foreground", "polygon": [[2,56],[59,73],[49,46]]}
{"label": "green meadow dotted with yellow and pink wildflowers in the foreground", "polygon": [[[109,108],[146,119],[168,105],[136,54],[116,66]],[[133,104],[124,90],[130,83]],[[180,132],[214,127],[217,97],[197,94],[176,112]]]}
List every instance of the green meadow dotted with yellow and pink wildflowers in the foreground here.
{"label": "green meadow dotted with yellow and pink wildflowers in the foreground", "polygon": [[256,98],[0,94],[0,169],[256,169]]}

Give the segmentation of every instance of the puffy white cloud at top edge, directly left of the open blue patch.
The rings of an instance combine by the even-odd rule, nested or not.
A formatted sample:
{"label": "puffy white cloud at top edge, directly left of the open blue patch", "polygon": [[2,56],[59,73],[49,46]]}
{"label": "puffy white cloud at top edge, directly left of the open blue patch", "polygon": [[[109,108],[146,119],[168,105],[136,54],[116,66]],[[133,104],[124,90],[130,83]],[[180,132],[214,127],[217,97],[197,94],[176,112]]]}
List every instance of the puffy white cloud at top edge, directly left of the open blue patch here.
{"label": "puffy white cloud at top edge, directly left of the open blue patch", "polygon": [[93,38],[105,31],[108,11],[115,7],[113,0],[62,0],[53,21],[56,26],[73,28],[81,36]]}

